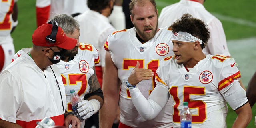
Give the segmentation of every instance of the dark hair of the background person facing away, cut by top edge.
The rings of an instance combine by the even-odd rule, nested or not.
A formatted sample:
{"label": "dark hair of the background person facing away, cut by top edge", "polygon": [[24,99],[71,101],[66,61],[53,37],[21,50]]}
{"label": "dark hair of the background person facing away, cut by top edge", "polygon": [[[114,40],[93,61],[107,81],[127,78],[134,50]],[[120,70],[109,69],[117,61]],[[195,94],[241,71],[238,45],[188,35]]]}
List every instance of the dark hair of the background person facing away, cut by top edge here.
{"label": "dark hair of the background person facing away, cut by top edge", "polygon": [[90,10],[101,13],[101,10],[108,7],[109,2],[110,0],[87,0],[87,6]]}

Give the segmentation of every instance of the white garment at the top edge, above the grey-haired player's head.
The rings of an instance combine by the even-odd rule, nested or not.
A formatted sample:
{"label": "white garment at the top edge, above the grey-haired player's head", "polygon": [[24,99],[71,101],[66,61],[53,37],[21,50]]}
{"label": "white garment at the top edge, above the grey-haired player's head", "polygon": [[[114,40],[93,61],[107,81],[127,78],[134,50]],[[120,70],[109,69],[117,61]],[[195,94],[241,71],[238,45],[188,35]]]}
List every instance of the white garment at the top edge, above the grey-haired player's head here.
{"label": "white garment at the top edge, above the grey-haired player's head", "polygon": [[58,14],[82,14],[88,10],[87,0],[36,0],[36,7],[51,6],[50,18]]}

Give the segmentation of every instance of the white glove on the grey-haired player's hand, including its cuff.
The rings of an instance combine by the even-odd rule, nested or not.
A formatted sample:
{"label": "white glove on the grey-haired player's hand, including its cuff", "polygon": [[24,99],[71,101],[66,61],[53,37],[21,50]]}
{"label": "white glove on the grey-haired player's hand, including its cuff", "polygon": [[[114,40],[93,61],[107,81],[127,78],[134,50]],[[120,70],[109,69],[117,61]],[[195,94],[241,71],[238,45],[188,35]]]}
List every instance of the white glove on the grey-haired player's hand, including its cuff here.
{"label": "white glove on the grey-haired player's hand, including its cuff", "polygon": [[95,114],[96,112],[98,112],[100,108],[100,102],[96,99],[92,99],[92,100],[82,100],[82,102],[79,102],[76,105],[76,117],[79,120],[86,120],[88,118],[90,118],[93,114]]}

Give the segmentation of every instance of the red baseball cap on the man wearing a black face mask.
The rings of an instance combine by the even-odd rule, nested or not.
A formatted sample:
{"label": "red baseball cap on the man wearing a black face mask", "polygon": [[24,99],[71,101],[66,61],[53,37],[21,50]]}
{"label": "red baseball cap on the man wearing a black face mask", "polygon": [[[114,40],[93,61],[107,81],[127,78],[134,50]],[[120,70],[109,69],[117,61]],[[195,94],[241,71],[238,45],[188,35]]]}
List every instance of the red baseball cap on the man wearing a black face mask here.
{"label": "red baseball cap on the man wearing a black face mask", "polygon": [[52,43],[46,40],[46,36],[50,35],[52,32],[52,24],[43,24],[36,28],[32,35],[32,42],[36,46],[43,47],[53,47],[58,46],[60,48],[70,50],[76,46],[76,39],[69,38],[66,36],[65,32],[62,28],[58,27],[58,31],[56,34],[56,42]]}

